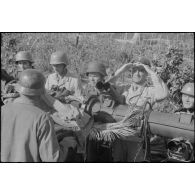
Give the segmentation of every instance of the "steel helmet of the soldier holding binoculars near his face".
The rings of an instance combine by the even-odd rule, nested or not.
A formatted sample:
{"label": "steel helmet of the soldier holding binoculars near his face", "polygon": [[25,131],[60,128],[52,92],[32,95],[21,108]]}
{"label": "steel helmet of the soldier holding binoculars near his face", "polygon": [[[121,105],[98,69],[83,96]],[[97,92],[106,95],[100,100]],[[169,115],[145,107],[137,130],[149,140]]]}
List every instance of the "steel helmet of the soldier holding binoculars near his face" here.
{"label": "steel helmet of the soldier holding binoculars near his face", "polygon": [[88,64],[86,74],[90,72],[98,72],[104,77],[107,76],[105,65],[100,62],[90,62]]}

